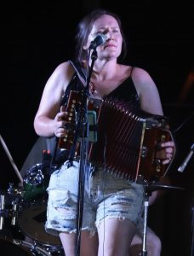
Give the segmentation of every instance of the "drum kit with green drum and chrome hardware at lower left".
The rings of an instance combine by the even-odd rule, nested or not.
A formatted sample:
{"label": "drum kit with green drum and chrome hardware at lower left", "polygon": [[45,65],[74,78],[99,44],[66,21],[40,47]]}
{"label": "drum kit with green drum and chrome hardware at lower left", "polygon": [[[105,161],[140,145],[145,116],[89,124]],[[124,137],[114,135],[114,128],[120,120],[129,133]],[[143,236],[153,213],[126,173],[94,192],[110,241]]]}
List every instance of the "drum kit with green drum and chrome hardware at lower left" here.
{"label": "drum kit with green drum and chrome hardware at lower left", "polygon": [[23,185],[0,191],[0,247],[6,255],[65,255],[60,238],[44,230],[47,179],[42,164],[27,170]]}

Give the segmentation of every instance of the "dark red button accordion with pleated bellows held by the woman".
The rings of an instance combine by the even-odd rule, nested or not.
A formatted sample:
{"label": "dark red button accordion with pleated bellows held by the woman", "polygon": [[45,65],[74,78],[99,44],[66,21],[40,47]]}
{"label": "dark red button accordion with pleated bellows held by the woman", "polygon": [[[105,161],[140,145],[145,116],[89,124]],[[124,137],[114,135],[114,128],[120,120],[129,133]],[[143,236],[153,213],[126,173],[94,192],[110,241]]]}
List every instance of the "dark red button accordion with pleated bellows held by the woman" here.
{"label": "dark red button accordion with pleated bellows held by the woman", "polygon": [[[67,117],[68,122],[72,122],[75,108],[80,105],[77,95],[76,91],[71,91],[66,108],[71,117]],[[166,176],[170,164],[163,165],[163,160],[157,157],[160,143],[173,140],[171,132],[164,128],[165,117],[130,111],[108,100],[97,105],[90,102],[88,106],[97,113],[97,141],[89,145],[89,162],[112,175],[139,183]],[[72,123],[74,131],[61,138],[60,148],[71,147],[76,126]]]}

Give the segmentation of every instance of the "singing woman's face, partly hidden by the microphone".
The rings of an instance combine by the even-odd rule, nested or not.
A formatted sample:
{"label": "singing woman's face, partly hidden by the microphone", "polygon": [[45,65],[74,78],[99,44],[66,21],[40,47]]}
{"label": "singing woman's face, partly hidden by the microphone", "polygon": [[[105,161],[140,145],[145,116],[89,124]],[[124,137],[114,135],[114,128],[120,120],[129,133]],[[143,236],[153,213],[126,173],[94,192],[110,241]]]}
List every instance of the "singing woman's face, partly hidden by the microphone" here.
{"label": "singing woman's face, partly hidden by the microphone", "polygon": [[111,15],[102,15],[99,19],[95,20],[92,30],[88,35],[88,43],[85,49],[88,49],[98,33],[106,35],[106,43],[96,48],[98,58],[117,58],[121,54],[123,44],[123,38],[117,20]]}

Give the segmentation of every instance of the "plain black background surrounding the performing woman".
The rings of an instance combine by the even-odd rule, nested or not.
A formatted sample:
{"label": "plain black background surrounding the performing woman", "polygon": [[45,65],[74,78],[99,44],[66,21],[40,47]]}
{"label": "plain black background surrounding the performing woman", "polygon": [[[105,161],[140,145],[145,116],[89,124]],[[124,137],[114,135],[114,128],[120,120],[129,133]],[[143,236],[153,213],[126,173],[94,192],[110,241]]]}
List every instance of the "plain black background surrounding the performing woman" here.
{"label": "plain black background surrounding the performing woman", "polygon": [[[1,136],[20,170],[37,140],[33,119],[44,84],[74,54],[77,22],[96,7],[116,12],[128,39],[126,63],[145,68],[157,84],[176,143],[168,174],[172,185],[185,188],[166,189],[150,207],[149,224],[162,239],[164,256],[191,255],[193,158],[183,173],[177,169],[194,143],[194,3],[91,2],[8,1],[2,7]],[[7,189],[18,177],[2,145],[0,150],[0,186]]]}

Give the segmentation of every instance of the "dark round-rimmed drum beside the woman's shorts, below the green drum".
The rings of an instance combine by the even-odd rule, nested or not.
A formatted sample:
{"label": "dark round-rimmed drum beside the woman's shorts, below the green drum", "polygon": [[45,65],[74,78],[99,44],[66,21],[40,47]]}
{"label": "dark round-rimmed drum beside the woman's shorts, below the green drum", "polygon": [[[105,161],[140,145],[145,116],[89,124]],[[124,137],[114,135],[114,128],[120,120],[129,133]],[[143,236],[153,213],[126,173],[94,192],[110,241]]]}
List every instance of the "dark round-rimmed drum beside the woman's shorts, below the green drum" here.
{"label": "dark round-rimmed drum beside the woman's shorts, below the green drum", "polygon": [[30,237],[32,241],[36,241],[43,247],[50,247],[51,249],[54,247],[55,251],[62,245],[58,236],[49,235],[44,229],[46,211],[47,201],[31,201],[22,210],[18,224],[21,232]]}

